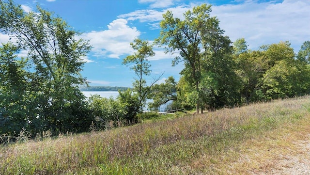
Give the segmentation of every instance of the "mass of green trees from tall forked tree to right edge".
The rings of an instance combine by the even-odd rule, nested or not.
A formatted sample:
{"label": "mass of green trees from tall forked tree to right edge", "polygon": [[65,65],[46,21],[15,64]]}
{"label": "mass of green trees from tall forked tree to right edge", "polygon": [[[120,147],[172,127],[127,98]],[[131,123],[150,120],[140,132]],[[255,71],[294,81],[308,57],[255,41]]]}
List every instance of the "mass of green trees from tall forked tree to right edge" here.
{"label": "mass of green trees from tall forked tree to right edge", "polygon": [[[157,43],[166,51],[180,52],[172,66],[184,62],[177,84],[167,81],[154,87],[154,104],[174,100],[181,108],[196,112],[240,106],[310,93],[310,41],[298,54],[289,41],[249,50],[244,38],[233,45],[210,16],[211,6],[202,4],[184,14],[184,20],[168,11],[160,22]],[[177,89],[177,95],[170,95]],[[177,98],[176,98],[177,97]]]}

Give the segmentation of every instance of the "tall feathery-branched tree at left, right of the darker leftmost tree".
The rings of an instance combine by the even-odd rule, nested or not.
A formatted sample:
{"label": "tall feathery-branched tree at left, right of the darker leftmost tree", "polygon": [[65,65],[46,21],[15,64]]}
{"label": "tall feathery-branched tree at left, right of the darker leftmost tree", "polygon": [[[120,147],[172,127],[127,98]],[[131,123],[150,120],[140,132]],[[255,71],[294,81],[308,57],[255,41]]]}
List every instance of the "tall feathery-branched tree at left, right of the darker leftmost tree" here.
{"label": "tall feathery-branched tree at left, right of the darker leftmost tree", "polygon": [[86,83],[80,74],[85,63],[81,57],[90,51],[89,43],[77,40],[80,33],[39,6],[37,12],[26,13],[13,0],[1,0],[0,21],[0,32],[16,38],[16,46],[28,52],[32,65],[29,92],[36,115],[29,123],[55,132],[79,130],[74,128],[77,117],[87,120],[78,114],[85,107],[78,86]]}

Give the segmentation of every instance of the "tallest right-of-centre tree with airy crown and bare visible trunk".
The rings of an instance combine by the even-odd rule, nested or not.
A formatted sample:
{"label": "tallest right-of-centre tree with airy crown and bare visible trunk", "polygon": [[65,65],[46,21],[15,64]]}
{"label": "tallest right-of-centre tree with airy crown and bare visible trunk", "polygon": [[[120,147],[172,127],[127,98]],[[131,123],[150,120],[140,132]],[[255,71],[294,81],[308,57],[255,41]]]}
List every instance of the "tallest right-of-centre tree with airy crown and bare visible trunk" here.
{"label": "tallest right-of-centre tree with airy crown and bare visible trunk", "polygon": [[[221,60],[228,61],[227,56],[232,52],[231,41],[223,36],[224,31],[219,28],[218,19],[210,16],[210,13],[211,5],[206,4],[187,11],[184,20],[174,18],[168,11],[163,15],[164,19],[160,22],[160,36],[156,39],[158,44],[166,46],[166,52],[180,53],[172,65],[184,62],[185,68],[181,71],[181,75],[193,86],[194,92],[191,94],[192,99],[196,100],[197,113],[200,108],[204,108],[206,102],[203,97],[207,91],[204,90],[204,85],[200,85],[203,77],[215,75],[216,69],[212,67],[221,64],[223,68],[225,63]],[[219,88],[224,86],[222,83],[219,85]]]}

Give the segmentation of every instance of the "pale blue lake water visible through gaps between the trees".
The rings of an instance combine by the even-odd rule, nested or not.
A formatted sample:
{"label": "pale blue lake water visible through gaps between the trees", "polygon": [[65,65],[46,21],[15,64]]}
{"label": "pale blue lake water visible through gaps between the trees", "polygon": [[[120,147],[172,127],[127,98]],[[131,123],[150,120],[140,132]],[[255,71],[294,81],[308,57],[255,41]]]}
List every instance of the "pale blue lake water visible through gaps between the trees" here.
{"label": "pale blue lake water visible through gaps between the trees", "polygon": [[[114,98],[114,99],[117,97],[117,95],[119,95],[118,91],[82,91],[82,93],[84,93],[84,95],[85,95],[86,97],[90,97],[91,95],[97,94],[97,95],[100,95],[101,97],[105,97],[105,98],[112,97],[112,98]],[[148,100],[146,101],[146,103],[149,103],[149,102],[152,102],[152,99],[148,99]],[[168,102],[168,103],[169,103],[169,102]],[[166,111],[166,106],[167,106],[167,105],[168,105],[168,104],[166,104],[166,105],[161,105],[161,106],[159,107],[159,111],[160,111],[160,112]],[[143,109],[143,111],[149,111],[149,110],[148,110],[148,107],[145,107],[145,108]]]}

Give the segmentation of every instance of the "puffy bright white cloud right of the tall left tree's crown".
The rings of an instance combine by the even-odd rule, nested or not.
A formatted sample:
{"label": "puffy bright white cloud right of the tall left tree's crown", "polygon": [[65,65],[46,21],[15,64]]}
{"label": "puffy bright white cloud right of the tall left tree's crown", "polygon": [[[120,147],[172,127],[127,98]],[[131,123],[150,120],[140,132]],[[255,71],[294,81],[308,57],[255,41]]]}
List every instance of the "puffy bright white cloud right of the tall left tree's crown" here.
{"label": "puffy bright white cloud right of the tall left tree's crown", "polygon": [[133,52],[130,42],[139,35],[137,28],[127,25],[127,20],[116,19],[108,25],[108,30],[83,33],[80,37],[90,40],[93,56],[120,58]]}

